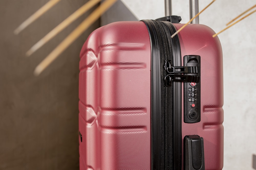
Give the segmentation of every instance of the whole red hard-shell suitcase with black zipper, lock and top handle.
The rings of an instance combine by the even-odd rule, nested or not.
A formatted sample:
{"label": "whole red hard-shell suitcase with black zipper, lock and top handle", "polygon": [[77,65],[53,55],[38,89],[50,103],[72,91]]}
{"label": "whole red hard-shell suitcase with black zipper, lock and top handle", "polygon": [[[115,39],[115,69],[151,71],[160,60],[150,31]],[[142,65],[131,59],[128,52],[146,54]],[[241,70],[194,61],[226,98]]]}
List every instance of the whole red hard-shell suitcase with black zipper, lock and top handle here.
{"label": "whole red hard-shell suitcase with black zipper, lock and top handle", "polygon": [[[105,25],[80,54],[80,169],[222,169],[222,49],[177,16]],[[177,22],[177,23],[175,23]]]}

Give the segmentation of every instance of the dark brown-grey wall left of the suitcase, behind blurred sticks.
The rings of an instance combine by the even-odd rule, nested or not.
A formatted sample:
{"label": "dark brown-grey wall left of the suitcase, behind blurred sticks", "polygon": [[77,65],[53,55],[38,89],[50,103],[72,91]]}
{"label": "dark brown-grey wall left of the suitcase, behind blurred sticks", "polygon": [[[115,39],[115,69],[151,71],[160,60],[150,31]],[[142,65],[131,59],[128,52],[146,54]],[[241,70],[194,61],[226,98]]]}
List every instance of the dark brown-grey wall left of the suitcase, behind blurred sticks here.
{"label": "dark brown-grey wall left of the suitcase, behind blurred sticks", "polygon": [[43,60],[83,15],[31,57],[26,51],[85,0],[62,0],[19,35],[13,31],[48,0],[0,1],[0,169],[78,169],[79,53],[97,21],[39,77]]}

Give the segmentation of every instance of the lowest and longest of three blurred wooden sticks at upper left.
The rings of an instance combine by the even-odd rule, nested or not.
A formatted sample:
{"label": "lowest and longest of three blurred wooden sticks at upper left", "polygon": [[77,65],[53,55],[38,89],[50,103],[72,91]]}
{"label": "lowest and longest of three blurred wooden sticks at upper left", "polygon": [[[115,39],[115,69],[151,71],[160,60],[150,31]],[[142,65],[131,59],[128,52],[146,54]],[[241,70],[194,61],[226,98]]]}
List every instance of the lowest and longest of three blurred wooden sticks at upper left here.
{"label": "lowest and longest of three blurred wooden sticks at upper left", "polygon": [[90,25],[95,22],[117,0],[105,0],[96,8],[73,32],[71,32],[35,69],[38,76],[54,61],[70,44],[72,44]]}

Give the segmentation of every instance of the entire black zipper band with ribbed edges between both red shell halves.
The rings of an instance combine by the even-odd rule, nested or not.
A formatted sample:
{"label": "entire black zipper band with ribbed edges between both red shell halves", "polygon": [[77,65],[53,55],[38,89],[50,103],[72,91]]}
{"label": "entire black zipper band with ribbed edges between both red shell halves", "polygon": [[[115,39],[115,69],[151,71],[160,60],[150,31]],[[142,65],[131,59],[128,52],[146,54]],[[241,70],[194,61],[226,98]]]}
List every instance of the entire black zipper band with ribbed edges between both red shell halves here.
{"label": "entire black zipper band with ribbed edges between both red shell halves", "polygon": [[[181,170],[181,81],[184,75],[169,74],[170,70],[165,69],[166,60],[171,68],[181,67],[179,38],[178,35],[170,38],[176,32],[170,22],[142,21],[151,42],[151,169]],[[165,77],[171,78],[169,84]]]}

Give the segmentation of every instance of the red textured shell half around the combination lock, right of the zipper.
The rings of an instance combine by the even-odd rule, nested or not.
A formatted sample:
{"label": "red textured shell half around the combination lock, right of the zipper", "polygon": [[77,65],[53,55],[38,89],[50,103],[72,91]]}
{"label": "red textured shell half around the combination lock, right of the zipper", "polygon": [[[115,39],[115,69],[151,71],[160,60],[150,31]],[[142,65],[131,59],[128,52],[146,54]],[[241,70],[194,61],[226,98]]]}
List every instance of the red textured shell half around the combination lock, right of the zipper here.
{"label": "red textured shell half around the combination lock, right of the zipper", "polygon": [[[183,26],[174,25],[177,30]],[[189,24],[178,34],[182,57],[201,56],[201,121],[193,124],[183,121],[182,138],[186,135],[204,138],[206,170],[219,170],[223,167],[222,48],[219,38],[212,38],[214,34],[212,29],[200,24]]]}

